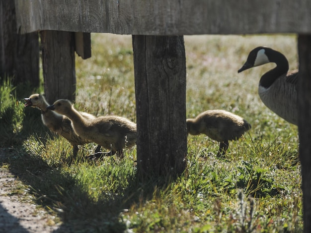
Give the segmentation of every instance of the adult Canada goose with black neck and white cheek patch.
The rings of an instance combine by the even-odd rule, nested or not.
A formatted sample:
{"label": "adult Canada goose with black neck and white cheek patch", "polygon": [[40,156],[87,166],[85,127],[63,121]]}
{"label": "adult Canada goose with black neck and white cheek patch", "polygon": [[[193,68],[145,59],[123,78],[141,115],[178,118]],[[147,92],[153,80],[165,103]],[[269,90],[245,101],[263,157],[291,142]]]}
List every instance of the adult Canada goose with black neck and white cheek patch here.
{"label": "adult Canada goose with black neck and white cheek patch", "polygon": [[261,76],[258,87],[260,99],[278,116],[298,125],[298,70],[288,72],[288,60],[283,54],[267,47],[257,47],[250,51],[246,62],[237,72],[268,62],[276,63],[276,67]]}

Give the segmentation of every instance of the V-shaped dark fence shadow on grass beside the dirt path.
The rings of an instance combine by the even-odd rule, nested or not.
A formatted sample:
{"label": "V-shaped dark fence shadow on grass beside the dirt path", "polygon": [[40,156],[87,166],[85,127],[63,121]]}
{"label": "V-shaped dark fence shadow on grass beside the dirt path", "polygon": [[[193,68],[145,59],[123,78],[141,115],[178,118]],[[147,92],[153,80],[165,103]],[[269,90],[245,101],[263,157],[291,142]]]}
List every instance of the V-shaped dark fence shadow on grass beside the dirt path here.
{"label": "V-shaped dark fence shadow on grass beside the dirt path", "polygon": [[[142,183],[136,174],[129,175],[126,187],[116,185],[114,192],[100,193],[98,200],[93,200],[88,188],[79,182],[74,173],[51,167],[42,158],[27,154],[23,148],[6,150],[5,154],[0,163],[8,164],[10,172],[29,187],[37,204],[63,222],[56,233],[65,230],[124,232],[127,226],[120,221],[120,213],[133,204],[151,199],[155,188],[165,188],[165,184],[168,184],[165,178],[144,180]],[[118,177],[115,175],[113,179],[117,180]]]}

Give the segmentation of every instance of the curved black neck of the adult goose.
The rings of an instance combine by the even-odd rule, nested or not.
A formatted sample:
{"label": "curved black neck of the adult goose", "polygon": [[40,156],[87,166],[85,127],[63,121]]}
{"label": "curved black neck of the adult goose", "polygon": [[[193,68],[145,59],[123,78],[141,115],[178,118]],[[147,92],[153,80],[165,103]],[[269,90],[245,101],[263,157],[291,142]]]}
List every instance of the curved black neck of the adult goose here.
{"label": "curved black neck of the adult goose", "polygon": [[269,50],[266,49],[265,54],[269,58],[270,62],[274,62],[276,64],[275,68],[269,70],[264,75],[262,75],[260,78],[260,81],[259,81],[260,86],[263,86],[264,88],[268,88],[280,76],[287,73],[289,69],[289,65],[288,65],[288,60],[280,52],[277,52],[272,49],[269,49]]}

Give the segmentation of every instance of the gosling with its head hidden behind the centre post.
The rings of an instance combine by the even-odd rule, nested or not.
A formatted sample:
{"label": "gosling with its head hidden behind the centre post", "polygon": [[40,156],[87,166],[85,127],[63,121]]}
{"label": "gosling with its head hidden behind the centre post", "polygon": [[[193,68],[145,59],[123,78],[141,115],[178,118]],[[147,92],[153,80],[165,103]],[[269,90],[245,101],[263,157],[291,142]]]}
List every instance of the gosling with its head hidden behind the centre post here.
{"label": "gosling with its head hidden behind the centre post", "polygon": [[208,110],[195,118],[187,119],[188,133],[203,133],[220,142],[217,156],[227,152],[229,140],[237,140],[250,128],[251,125],[245,119],[224,110]]}

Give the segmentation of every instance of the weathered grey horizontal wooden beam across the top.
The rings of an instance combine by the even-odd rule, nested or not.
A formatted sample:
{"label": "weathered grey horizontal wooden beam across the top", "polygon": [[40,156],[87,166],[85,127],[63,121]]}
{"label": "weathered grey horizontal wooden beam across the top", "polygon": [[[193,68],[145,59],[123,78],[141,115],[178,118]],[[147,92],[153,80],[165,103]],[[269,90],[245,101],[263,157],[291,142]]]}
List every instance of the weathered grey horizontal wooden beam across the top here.
{"label": "weathered grey horizontal wooden beam across the top", "polygon": [[311,32],[310,0],[15,0],[22,33],[131,35]]}

